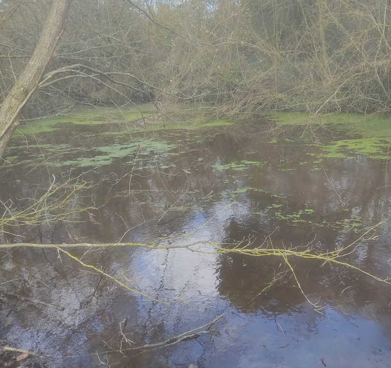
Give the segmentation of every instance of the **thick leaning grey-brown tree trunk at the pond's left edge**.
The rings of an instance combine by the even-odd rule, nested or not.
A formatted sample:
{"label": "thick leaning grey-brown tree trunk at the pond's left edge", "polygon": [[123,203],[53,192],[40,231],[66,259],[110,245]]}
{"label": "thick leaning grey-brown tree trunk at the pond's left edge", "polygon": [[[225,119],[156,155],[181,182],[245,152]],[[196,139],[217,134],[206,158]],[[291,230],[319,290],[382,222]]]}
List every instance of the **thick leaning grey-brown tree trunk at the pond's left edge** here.
{"label": "thick leaning grey-brown tree trunk at the pond's left edge", "polygon": [[1,106],[0,159],[20,123],[19,117],[23,106],[38,88],[46,66],[53,55],[63,31],[70,2],[71,0],[53,0],[50,14],[35,51]]}

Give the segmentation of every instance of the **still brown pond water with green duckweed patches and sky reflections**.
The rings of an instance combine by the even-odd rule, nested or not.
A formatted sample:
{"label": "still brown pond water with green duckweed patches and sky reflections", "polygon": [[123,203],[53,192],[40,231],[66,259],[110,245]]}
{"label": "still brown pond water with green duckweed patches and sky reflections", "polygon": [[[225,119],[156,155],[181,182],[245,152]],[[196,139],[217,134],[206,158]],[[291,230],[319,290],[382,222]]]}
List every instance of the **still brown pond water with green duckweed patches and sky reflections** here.
{"label": "still brown pond water with green duckweed patches and sky reflections", "polygon": [[[84,180],[91,187],[66,206],[92,199],[99,210],[79,214],[78,222],[3,229],[1,243],[159,239],[177,246],[251,237],[256,248],[267,237],[264,247],[343,248],[391,212],[391,120],[326,118],[322,126],[292,115],[232,125],[151,123],[146,132],[88,117],[30,124],[5,157],[0,200],[11,199],[12,210],[20,210],[53,175],[60,182],[83,174],[75,185]],[[391,276],[390,221],[342,261]],[[358,270],[289,257],[304,294],[320,305],[315,310],[291,273],[259,295],[286,268],[279,256],[141,247],[68,251],[122,286],[56,249],[2,249],[1,344],[37,355],[0,350],[0,366],[391,366],[391,285]],[[164,342],[221,314],[200,335],[129,349]],[[120,334],[125,319],[131,343]]]}

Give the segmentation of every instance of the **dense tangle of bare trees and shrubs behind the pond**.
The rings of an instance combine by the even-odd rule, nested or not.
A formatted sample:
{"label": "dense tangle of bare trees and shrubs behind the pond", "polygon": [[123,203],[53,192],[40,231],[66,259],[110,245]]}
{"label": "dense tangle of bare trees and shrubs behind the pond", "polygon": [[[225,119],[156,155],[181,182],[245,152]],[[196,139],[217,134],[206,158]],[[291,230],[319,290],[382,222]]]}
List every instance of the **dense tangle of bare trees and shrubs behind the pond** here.
{"label": "dense tangle of bare trees and shrubs behind the pond", "polygon": [[[72,106],[206,102],[389,112],[390,0],[75,0],[23,117]],[[0,2],[0,102],[37,44],[46,0]],[[63,68],[63,70],[61,70]]]}

